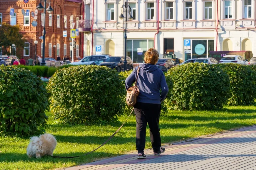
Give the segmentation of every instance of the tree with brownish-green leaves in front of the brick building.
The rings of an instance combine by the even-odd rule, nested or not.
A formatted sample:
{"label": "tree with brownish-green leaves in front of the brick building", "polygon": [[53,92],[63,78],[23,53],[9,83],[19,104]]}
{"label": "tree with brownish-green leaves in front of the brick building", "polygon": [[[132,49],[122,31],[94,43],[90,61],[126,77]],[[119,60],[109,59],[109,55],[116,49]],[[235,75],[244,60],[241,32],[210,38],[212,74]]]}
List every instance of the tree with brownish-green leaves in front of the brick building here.
{"label": "tree with brownish-green leaves in front of the brick building", "polygon": [[11,26],[10,24],[2,23],[0,27],[0,48],[2,53],[10,55],[10,46],[15,44],[16,48],[24,48],[25,39],[19,32],[19,25]]}

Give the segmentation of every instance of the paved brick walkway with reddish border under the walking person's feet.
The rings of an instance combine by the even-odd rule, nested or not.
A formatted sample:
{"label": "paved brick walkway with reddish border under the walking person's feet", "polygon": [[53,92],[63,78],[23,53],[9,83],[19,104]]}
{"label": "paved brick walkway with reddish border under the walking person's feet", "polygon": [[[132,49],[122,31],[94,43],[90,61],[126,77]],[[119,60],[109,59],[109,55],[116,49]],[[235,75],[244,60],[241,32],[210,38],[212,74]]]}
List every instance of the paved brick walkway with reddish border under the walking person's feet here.
{"label": "paved brick walkway with reddish border under the walking person's feet", "polygon": [[256,126],[165,148],[161,156],[146,150],[143,160],[131,153],[65,170],[252,170],[256,169]]}

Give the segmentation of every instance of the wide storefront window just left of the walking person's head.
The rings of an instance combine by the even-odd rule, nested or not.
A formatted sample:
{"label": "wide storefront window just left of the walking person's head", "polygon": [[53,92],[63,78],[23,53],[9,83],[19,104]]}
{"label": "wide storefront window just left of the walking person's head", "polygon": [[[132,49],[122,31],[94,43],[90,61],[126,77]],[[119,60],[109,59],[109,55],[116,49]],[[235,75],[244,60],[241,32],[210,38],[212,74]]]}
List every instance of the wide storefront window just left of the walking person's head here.
{"label": "wide storefront window just left of the walking person's head", "polygon": [[127,56],[131,57],[133,63],[144,63],[144,54],[154,47],[154,40],[127,40]]}

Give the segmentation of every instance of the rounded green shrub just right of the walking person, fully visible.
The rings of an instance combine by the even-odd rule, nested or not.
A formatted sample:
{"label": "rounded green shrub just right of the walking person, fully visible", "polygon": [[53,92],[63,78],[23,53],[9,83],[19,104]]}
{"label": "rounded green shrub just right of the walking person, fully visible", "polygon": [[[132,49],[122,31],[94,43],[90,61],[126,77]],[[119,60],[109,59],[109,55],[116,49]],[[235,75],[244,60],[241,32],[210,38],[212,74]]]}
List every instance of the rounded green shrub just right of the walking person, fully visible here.
{"label": "rounded green shrub just right of the walking person, fully visible", "polygon": [[170,69],[166,75],[174,84],[173,99],[168,102],[172,109],[222,109],[229,97],[228,75],[217,66],[189,63]]}

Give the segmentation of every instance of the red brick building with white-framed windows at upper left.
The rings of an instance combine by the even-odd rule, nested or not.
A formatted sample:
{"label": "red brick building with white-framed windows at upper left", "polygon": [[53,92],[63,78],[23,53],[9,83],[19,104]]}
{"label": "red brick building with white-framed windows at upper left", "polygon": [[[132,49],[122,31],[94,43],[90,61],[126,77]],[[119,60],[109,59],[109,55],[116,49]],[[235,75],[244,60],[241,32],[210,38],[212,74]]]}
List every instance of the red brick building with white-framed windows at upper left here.
{"label": "red brick building with white-framed windows at upper left", "polygon": [[[28,0],[26,0],[28,1]],[[49,6],[50,0],[47,0],[46,8]],[[24,0],[0,0],[0,22],[11,25],[18,24],[21,27],[21,33],[26,39],[24,49],[17,49],[17,56],[25,59],[35,56],[35,44],[37,40],[37,55],[43,55],[43,40],[40,36],[43,35],[43,10],[38,11],[37,17],[32,17],[32,11],[36,11],[40,0],[29,0],[25,3]],[[43,5],[43,1],[41,2]],[[72,46],[70,46],[70,29],[72,28],[72,20],[75,22],[74,29],[78,29],[78,20],[81,20],[82,0],[51,0],[51,6],[54,11],[51,14],[46,14],[46,43],[45,57],[61,58],[64,55],[71,56]],[[11,8],[14,8],[14,16],[10,15]],[[25,15],[22,14],[22,9]],[[29,11],[28,11],[29,10]],[[33,27],[32,22],[36,21],[37,26]],[[1,24],[0,24],[1,26]],[[63,37],[63,31],[67,31],[67,37]],[[76,46],[73,46],[74,60],[79,56],[83,56],[83,50],[80,48],[81,36],[75,38]],[[15,44],[15,42],[14,42]],[[71,49],[71,51],[70,51]],[[71,59],[71,57],[70,57]]]}

